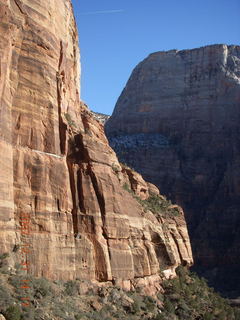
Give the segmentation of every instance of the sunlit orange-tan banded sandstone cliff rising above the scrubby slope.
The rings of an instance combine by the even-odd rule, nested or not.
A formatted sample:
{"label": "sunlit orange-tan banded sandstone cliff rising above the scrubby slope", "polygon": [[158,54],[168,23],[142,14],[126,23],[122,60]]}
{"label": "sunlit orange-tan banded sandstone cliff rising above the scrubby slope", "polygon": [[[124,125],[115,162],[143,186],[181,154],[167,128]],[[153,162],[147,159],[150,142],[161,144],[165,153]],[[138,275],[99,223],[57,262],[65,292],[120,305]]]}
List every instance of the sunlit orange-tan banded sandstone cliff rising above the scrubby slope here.
{"label": "sunlit orange-tan banded sandstone cliff rising above the scrubby slope", "polygon": [[160,268],[192,263],[185,219],[143,208],[140,186],[156,188],[80,101],[71,2],[0,0],[0,33],[0,253],[35,276],[152,292]]}

